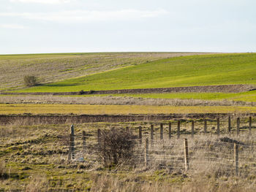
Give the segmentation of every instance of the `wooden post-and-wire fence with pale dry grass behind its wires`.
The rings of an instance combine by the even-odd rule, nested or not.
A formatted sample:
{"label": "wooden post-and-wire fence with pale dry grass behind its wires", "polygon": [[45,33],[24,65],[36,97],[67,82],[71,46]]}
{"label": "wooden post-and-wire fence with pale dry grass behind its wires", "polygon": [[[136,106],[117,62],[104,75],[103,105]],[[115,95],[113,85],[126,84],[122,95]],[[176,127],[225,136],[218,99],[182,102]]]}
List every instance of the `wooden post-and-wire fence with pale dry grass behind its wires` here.
{"label": "wooden post-and-wire fence with pale dry grass behind its wires", "polygon": [[[124,131],[138,134],[138,138],[133,139],[132,144],[136,166],[168,169],[171,172],[215,172],[221,175],[256,177],[256,145],[252,136],[252,118],[248,121],[249,134],[240,133],[241,120],[237,118],[236,134],[226,134],[225,137],[219,137],[219,118],[214,121],[217,125],[215,134],[207,134],[208,122],[213,121],[203,120],[203,134],[195,134],[195,122],[191,120],[189,139],[188,133],[181,134],[180,120],[177,121],[176,130],[172,130],[172,123],[167,123],[167,129],[164,123],[160,123],[159,130],[151,125],[144,133],[142,126],[135,130],[126,128]],[[233,129],[231,125],[231,118],[228,118],[228,133]],[[164,130],[167,130],[167,134]],[[112,128],[110,131],[114,132],[115,129]],[[72,126],[69,161],[86,161],[92,164],[99,162],[97,150],[99,145],[102,145],[100,135],[101,129],[94,135],[86,135],[86,131],[75,134]]]}

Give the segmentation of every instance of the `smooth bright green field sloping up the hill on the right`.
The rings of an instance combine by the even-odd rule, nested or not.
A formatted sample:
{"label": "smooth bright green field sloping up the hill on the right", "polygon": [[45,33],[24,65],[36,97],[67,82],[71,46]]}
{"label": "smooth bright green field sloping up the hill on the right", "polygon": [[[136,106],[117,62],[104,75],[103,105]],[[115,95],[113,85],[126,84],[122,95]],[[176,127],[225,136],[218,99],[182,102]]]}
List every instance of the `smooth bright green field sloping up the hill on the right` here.
{"label": "smooth bright green field sloping up the hill on the right", "polygon": [[58,92],[192,85],[256,84],[256,54],[166,58],[22,91]]}

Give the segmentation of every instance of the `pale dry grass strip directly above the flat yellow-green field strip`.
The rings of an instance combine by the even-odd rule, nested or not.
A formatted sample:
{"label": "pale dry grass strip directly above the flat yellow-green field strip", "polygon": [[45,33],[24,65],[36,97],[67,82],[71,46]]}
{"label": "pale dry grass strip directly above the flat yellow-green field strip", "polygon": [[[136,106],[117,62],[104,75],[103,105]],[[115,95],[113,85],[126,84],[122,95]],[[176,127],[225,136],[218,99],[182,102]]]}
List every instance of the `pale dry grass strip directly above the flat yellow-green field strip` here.
{"label": "pale dry grass strip directly above the flat yellow-green field strip", "polygon": [[0,96],[1,104],[92,104],[171,106],[255,106],[256,102],[200,99],[146,99],[131,96]]}

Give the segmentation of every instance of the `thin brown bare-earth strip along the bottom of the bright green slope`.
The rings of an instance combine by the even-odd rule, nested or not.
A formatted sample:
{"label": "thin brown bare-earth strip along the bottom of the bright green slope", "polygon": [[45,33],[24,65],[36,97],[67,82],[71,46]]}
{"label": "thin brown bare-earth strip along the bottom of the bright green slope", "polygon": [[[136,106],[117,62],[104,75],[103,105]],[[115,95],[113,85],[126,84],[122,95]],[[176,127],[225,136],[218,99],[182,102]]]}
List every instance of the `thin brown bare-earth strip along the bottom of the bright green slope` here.
{"label": "thin brown bare-earth strip along the bottom of the bright green slope", "polygon": [[255,90],[255,85],[206,85],[173,88],[139,88],[121,89],[105,91],[78,91],[78,92],[36,92],[36,93],[16,93],[1,92],[4,95],[88,95],[88,94],[118,94],[118,93],[241,93]]}

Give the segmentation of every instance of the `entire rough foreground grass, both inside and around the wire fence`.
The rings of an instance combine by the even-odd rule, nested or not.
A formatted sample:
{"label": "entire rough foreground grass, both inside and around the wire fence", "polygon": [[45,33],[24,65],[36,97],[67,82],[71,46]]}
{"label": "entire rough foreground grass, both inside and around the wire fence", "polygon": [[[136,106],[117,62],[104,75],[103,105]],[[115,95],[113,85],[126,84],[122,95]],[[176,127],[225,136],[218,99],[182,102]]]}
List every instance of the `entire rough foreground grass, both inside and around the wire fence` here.
{"label": "entire rough foreground grass, both inside and around the wire fence", "polygon": [[[241,119],[241,126],[248,124]],[[150,124],[154,123],[154,147],[149,146],[150,163],[143,164],[145,138],[150,137]],[[166,122],[165,122],[166,123]],[[176,121],[172,121],[173,137],[159,141],[159,123],[84,123],[75,124],[76,158],[85,162],[67,161],[70,125],[0,126],[0,156],[4,169],[10,169],[7,179],[0,179],[4,191],[254,191],[255,190],[255,130],[248,137],[246,128],[236,137],[227,133],[227,120],[221,121],[221,137],[236,139],[239,145],[239,175],[233,174],[233,143],[222,142],[208,122],[208,133],[201,134],[203,121],[195,120],[194,139],[189,136],[190,121],[181,123],[181,139],[176,139]],[[134,166],[121,164],[105,168],[97,157],[97,128],[109,130],[129,126],[135,135],[143,126],[143,145]],[[253,121],[255,126],[255,121]],[[81,132],[86,131],[86,152],[83,153]],[[189,142],[188,172],[184,170],[184,143]],[[149,141],[149,144],[151,142]],[[242,144],[243,143],[243,144]],[[165,147],[164,147],[165,146]],[[255,147],[252,147],[255,146]],[[154,150],[154,151],[153,151]],[[165,153],[162,153],[162,152]],[[78,154],[79,153],[79,154]],[[172,156],[171,156],[172,155]],[[218,155],[218,156],[217,156]],[[231,156],[230,156],[231,155]],[[173,157],[176,156],[176,157]],[[140,158],[142,161],[140,161]],[[178,160],[178,162],[176,161]],[[230,160],[230,161],[227,161]],[[1,161],[0,161],[1,162]]]}

